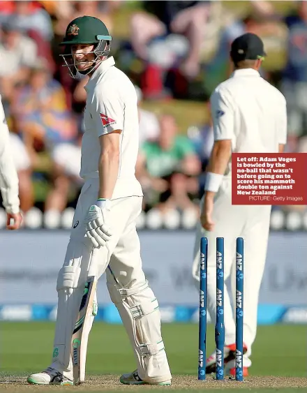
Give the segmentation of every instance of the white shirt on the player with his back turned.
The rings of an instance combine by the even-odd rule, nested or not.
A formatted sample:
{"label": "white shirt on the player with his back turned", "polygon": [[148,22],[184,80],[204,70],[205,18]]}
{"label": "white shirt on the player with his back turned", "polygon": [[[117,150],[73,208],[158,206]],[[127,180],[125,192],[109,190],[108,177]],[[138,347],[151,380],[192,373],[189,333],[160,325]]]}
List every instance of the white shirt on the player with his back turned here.
{"label": "white shirt on the player with his back turned", "polygon": [[[283,94],[252,68],[236,70],[211,94],[214,140],[232,140],[234,153],[277,153],[287,142]],[[225,175],[231,173],[231,160]]]}

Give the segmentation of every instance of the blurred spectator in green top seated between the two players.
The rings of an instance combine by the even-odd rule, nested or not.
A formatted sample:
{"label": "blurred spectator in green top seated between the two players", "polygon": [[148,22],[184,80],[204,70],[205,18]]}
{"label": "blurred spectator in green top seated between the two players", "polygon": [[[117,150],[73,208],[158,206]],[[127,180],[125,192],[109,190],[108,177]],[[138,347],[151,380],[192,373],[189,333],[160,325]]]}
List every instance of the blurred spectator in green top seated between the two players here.
{"label": "blurred spectator in green top seated between the two players", "polygon": [[196,209],[189,195],[198,193],[200,161],[190,140],[178,135],[177,123],[170,114],[160,117],[158,140],[142,145],[136,174],[143,186],[145,201],[158,198],[157,207],[161,212]]}

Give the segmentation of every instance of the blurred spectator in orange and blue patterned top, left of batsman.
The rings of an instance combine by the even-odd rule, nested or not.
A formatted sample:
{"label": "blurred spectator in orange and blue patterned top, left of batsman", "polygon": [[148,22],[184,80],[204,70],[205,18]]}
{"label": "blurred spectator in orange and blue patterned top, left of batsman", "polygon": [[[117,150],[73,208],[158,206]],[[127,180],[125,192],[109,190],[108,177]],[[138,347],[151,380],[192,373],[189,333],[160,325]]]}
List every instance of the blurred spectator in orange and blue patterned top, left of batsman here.
{"label": "blurred spectator in orange and blue patterned top, left of batsman", "polygon": [[[75,119],[66,106],[63,88],[52,78],[44,61],[39,61],[31,69],[29,84],[15,97],[13,113],[34,165],[37,162],[37,151],[43,149],[52,155],[59,144],[75,142]],[[66,207],[67,183],[63,181],[61,171],[54,168],[52,191],[45,202],[46,212],[61,212]]]}

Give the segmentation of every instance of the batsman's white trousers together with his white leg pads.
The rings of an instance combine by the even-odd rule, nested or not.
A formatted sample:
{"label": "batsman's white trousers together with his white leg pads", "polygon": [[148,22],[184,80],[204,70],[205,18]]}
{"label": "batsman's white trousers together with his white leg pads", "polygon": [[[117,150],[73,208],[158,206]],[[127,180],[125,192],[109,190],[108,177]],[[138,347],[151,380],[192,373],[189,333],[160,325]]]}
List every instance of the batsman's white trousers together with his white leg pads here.
{"label": "batsman's white trousers together with his white leg pads", "polygon": [[[142,197],[112,200],[107,219],[113,235],[106,246],[93,249],[85,236],[84,218],[97,196],[98,179],[89,179],[77,202],[65,261],[57,280],[58,311],[51,366],[72,379],[70,343],[84,285],[88,275],[96,274],[99,279],[106,272],[107,288],[133,346],[140,378],[151,383],[170,380],[158,300],[142,270],[140,240],[135,227],[136,218],[142,211]],[[87,334],[92,322],[93,317],[87,325]],[[101,353],[103,355],[103,348]],[[130,364],[127,368],[130,369]],[[81,380],[84,380],[85,369],[81,373]]]}

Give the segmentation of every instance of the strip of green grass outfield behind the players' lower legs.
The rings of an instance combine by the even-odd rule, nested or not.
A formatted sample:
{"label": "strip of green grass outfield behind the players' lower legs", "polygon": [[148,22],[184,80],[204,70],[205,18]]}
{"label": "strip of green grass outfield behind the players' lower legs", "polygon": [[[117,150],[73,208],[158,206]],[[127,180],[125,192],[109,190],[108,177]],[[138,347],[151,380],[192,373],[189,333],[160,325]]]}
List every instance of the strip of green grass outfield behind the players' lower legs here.
{"label": "strip of green grass outfield behind the players' lower legs", "polygon": [[[50,364],[54,323],[2,322],[1,372],[24,374]],[[163,337],[172,373],[197,373],[197,325],[164,324]],[[207,332],[207,354],[214,350],[214,328]],[[253,347],[251,376],[306,377],[307,335],[304,325],[260,326]],[[96,322],[89,339],[87,373],[133,371],[135,361],[121,325]]]}

